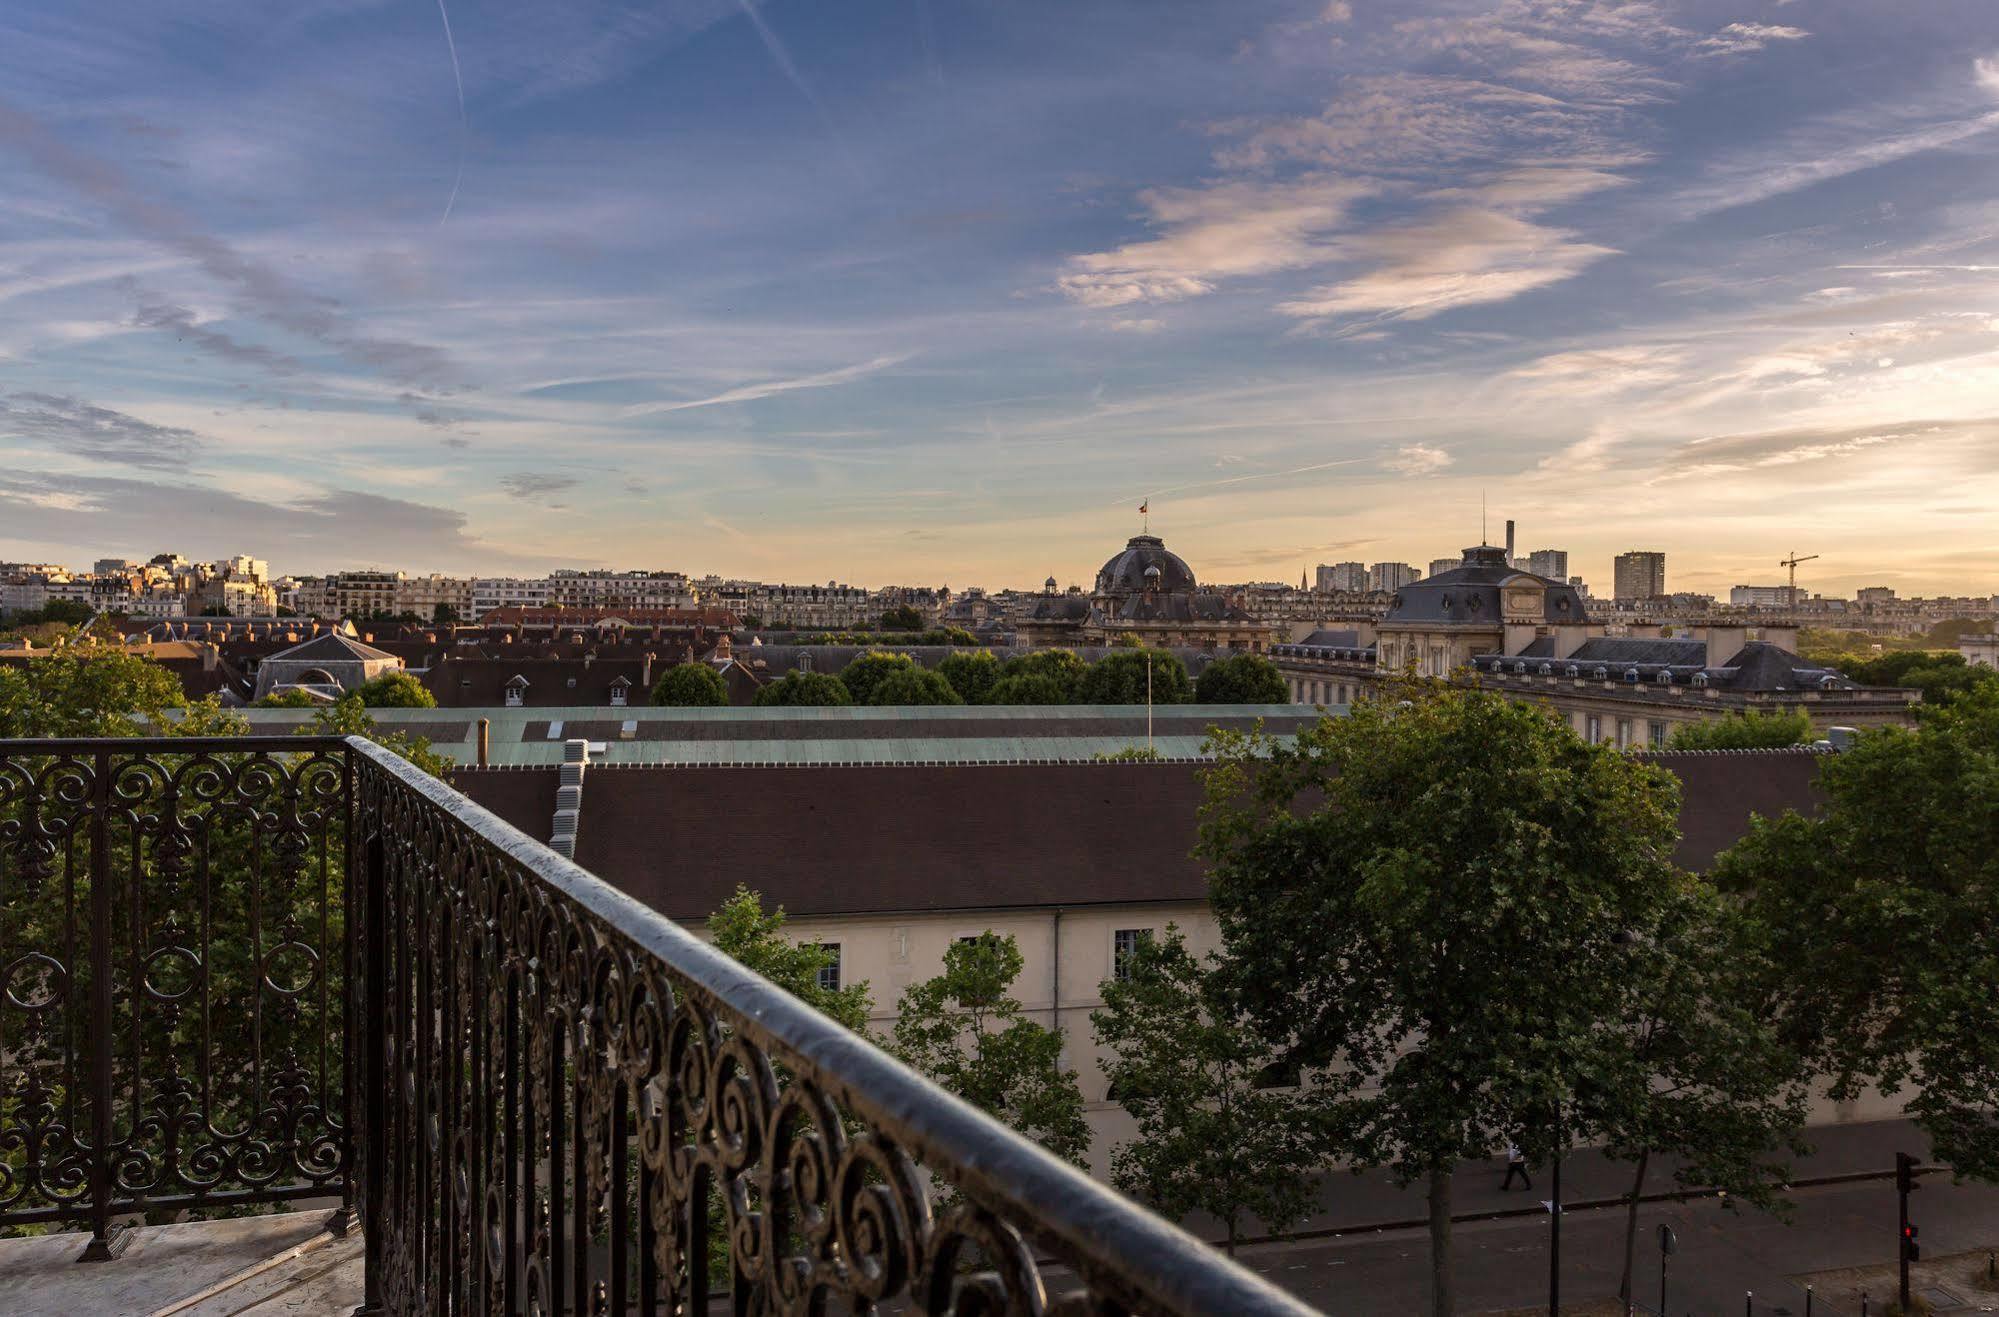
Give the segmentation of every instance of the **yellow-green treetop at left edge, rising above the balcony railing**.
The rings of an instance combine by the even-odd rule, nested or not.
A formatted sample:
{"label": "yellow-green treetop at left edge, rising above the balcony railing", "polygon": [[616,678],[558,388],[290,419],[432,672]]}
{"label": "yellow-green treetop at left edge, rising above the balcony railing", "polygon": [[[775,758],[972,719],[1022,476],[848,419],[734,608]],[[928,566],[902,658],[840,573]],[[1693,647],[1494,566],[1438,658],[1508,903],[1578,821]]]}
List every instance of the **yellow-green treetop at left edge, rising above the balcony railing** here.
{"label": "yellow-green treetop at left edge, rising above the balcony railing", "polygon": [[186,703],[180,677],[114,646],[70,644],[0,663],[0,737],[140,735]]}

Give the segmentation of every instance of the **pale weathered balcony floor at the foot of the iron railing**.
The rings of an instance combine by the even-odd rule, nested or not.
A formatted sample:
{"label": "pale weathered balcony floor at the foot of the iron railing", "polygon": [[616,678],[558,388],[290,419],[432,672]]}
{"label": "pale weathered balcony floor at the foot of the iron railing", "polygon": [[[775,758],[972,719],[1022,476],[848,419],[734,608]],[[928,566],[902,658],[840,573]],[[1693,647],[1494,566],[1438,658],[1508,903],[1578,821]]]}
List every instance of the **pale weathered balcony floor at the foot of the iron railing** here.
{"label": "pale weathered balcony floor at the foot of the iron railing", "polygon": [[148,1225],[108,1263],[78,1263],[84,1233],[0,1239],[12,1317],[346,1317],[362,1301],[362,1237],[328,1211]]}

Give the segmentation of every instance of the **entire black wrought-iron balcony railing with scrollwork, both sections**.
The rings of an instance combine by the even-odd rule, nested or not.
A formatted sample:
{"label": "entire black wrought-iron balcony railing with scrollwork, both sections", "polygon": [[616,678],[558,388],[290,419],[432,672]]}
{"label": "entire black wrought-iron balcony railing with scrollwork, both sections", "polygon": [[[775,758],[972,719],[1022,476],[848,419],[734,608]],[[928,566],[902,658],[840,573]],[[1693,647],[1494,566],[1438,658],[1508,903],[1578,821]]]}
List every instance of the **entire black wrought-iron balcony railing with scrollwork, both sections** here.
{"label": "entire black wrought-iron balcony railing with scrollwork, both sections", "polygon": [[0,741],[0,1227],[382,1313],[1309,1311],[362,739]]}

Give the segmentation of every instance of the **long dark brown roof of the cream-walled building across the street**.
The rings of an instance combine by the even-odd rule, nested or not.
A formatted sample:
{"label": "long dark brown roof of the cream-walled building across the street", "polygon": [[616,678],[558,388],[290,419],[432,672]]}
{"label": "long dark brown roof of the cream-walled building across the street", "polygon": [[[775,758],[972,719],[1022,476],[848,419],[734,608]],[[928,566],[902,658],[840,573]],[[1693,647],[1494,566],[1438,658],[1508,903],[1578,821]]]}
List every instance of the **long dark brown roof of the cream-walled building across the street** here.
{"label": "long dark brown roof of the cream-walled building across the street", "polygon": [[[1677,859],[1693,869],[1751,811],[1815,807],[1811,753],[1657,761],[1685,783]],[[548,837],[556,769],[460,769],[454,783]],[[1199,803],[1187,763],[596,765],[576,861],[676,919],[708,917],[738,881],[794,915],[1197,901]]]}

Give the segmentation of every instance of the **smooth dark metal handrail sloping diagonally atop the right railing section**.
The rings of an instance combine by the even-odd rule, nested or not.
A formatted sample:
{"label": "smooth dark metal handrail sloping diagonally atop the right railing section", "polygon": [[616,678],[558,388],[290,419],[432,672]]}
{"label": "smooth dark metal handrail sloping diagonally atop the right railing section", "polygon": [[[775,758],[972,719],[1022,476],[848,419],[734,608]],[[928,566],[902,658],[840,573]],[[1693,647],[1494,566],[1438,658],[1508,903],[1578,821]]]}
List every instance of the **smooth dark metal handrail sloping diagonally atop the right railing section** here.
{"label": "smooth dark metal handrail sloping diagonally atop the right railing section", "polygon": [[810,1073],[862,1123],[1075,1267],[1091,1291],[1139,1311],[1301,1315],[1315,1309],[1221,1257],[1177,1225],[1093,1181],[1037,1143],[944,1091],[862,1035],[694,937],[660,911],[564,859],[454,787],[362,737],[366,767],[500,849],[548,889],[630,939],[728,1015],[728,1025]]}

